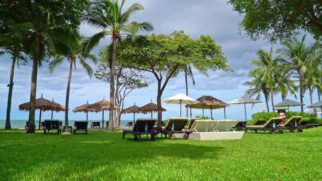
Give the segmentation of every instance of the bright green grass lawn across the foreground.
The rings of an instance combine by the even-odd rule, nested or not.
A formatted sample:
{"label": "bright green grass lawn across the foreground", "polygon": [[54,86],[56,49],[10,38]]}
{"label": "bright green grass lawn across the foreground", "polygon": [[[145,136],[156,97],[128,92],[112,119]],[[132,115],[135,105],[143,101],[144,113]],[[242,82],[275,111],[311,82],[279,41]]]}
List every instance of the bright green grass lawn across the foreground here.
{"label": "bright green grass lawn across the foreground", "polygon": [[322,180],[322,127],[237,141],[1,131],[0,148],[0,180]]}

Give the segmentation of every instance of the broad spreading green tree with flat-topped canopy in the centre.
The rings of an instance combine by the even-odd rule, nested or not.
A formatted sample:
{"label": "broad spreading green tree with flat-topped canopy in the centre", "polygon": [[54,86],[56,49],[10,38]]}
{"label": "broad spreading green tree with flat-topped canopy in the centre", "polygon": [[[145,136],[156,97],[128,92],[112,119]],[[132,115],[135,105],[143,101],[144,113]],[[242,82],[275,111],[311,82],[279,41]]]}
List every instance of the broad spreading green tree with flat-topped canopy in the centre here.
{"label": "broad spreading green tree with flat-topped canopy in the centre", "polygon": [[[147,45],[122,43],[118,61],[127,67],[152,73],[158,82],[158,109],[161,110],[161,96],[169,79],[192,65],[200,71],[222,69],[230,71],[222,47],[211,36],[191,39],[183,31],[165,35],[152,34]],[[158,111],[158,125],[162,114]]]}

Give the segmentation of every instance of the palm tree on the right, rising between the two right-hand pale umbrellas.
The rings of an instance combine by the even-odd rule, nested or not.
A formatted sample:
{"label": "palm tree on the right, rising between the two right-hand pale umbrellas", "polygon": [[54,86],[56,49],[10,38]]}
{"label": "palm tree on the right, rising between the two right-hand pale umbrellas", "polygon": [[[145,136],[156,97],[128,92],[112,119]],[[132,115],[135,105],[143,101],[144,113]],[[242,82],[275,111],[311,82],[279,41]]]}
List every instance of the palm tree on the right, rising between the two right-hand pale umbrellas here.
{"label": "palm tree on the right, rising between the two right-hand pale umbrellas", "polygon": [[257,51],[256,55],[258,56],[259,60],[252,60],[250,64],[255,65],[256,69],[253,69],[249,72],[250,77],[260,77],[261,84],[266,84],[270,89],[270,99],[272,101],[272,110],[275,112],[274,109],[274,89],[276,88],[277,83],[277,75],[281,71],[281,66],[278,64],[279,60],[281,59],[281,55],[277,56],[276,58],[272,58],[272,51],[273,49],[270,48],[270,52],[266,52],[262,49]]}

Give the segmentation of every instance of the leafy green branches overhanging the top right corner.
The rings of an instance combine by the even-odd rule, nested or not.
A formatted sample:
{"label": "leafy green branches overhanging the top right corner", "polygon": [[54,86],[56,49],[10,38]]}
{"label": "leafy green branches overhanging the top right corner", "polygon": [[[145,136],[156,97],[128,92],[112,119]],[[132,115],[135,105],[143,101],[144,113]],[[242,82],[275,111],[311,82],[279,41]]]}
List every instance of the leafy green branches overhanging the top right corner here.
{"label": "leafy green branches overhanging the top right corner", "polygon": [[304,29],[322,38],[322,3],[319,0],[229,0],[233,10],[244,16],[239,28],[252,40],[275,42]]}

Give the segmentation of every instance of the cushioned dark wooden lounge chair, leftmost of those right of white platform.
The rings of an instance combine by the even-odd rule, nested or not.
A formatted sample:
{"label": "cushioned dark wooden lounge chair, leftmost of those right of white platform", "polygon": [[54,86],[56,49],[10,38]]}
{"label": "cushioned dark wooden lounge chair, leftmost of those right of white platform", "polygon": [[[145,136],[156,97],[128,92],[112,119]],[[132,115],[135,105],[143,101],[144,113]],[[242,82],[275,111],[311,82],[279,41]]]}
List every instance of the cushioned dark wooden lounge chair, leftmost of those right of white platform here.
{"label": "cushioned dark wooden lounge chair, leftmost of those right of white platform", "polygon": [[281,117],[272,117],[264,125],[246,125],[245,132],[247,132],[247,130],[255,130],[255,133],[257,133],[257,130],[270,130],[270,134],[274,134],[275,130],[279,130],[280,133],[283,133],[283,131],[277,127],[281,121],[283,121],[283,118]]}

